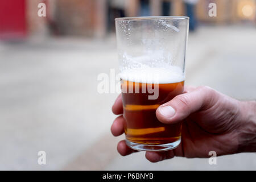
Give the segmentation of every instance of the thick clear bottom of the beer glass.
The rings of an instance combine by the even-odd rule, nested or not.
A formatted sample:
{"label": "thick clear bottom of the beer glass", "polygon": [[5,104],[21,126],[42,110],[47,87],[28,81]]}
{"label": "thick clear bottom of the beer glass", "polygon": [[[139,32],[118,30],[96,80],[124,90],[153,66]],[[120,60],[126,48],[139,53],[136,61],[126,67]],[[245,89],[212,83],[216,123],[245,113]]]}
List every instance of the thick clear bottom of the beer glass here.
{"label": "thick clear bottom of the beer glass", "polygon": [[172,143],[165,143],[165,144],[141,144],[141,143],[134,143],[130,142],[129,140],[125,140],[127,146],[133,148],[134,150],[139,151],[167,151],[172,150],[179,146],[181,138]]}

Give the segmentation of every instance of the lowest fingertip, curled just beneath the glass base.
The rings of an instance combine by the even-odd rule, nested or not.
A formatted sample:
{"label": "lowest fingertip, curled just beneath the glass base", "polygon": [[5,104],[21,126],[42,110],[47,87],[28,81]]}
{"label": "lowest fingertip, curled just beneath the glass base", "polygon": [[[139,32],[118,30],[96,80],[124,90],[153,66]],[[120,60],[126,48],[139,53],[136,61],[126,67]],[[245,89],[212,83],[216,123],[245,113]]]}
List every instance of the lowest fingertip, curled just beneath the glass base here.
{"label": "lowest fingertip, curled just beneath the glass base", "polygon": [[164,159],[171,159],[174,158],[174,151],[164,151],[164,152],[152,152],[147,151],[145,154],[145,157],[147,160],[149,160],[152,163],[159,162]]}

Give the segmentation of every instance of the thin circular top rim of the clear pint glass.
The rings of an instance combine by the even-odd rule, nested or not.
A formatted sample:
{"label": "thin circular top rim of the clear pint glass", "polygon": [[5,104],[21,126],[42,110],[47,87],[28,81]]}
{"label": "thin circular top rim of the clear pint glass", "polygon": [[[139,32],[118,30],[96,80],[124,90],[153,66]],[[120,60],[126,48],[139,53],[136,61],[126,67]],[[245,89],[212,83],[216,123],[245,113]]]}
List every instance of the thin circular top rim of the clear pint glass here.
{"label": "thin circular top rim of the clear pint glass", "polygon": [[188,16],[131,16],[131,17],[120,17],[115,18],[115,21],[138,21],[138,20],[189,20]]}

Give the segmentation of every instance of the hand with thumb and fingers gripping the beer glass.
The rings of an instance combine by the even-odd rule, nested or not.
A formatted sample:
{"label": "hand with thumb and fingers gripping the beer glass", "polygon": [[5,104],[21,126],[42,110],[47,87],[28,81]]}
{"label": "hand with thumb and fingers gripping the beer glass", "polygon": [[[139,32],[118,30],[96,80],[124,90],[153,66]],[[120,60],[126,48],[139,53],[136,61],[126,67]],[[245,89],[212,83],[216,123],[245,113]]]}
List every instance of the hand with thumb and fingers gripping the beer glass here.
{"label": "hand with thumb and fingers gripping the beer glass", "polygon": [[[156,110],[163,123],[182,122],[181,143],[174,150],[146,152],[151,162],[174,156],[207,158],[209,151],[217,155],[256,150],[255,103],[237,101],[206,86],[187,87],[184,94],[174,97]],[[122,114],[122,97],[118,96],[112,111]],[[111,127],[112,134],[124,132],[125,119],[117,117]],[[250,139],[247,139],[250,137]],[[125,140],[118,143],[118,152],[125,156],[133,152]]]}

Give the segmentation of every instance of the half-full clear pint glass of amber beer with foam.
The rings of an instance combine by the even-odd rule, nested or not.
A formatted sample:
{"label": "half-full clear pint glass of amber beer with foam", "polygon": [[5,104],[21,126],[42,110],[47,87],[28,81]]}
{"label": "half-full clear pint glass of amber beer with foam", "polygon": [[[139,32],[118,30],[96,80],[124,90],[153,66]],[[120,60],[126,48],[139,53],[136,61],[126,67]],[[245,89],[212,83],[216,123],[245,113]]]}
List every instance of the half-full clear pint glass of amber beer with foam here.
{"label": "half-full clear pint glass of amber beer with foam", "polygon": [[156,109],[184,92],[186,16],[116,18],[127,146],[166,151],[181,141],[181,123],[164,124]]}

